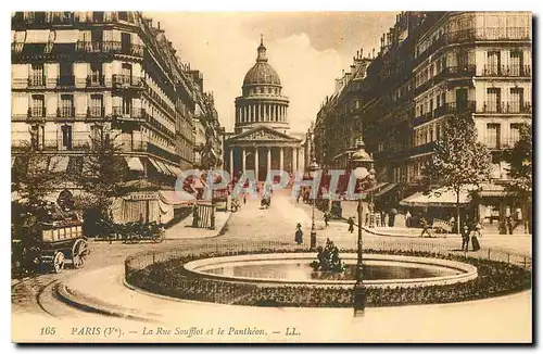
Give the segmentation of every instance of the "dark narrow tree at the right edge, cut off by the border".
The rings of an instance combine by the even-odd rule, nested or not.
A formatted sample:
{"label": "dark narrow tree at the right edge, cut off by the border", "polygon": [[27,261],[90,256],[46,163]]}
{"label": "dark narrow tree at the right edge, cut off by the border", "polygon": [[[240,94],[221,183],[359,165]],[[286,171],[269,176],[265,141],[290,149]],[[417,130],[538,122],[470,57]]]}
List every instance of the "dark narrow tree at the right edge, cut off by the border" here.
{"label": "dark narrow tree at the right edge, cut off by the border", "polygon": [[529,232],[532,229],[529,211],[532,203],[533,184],[532,151],[532,127],[528,124],[522,125],[519,130],[519,140],[506,154],[505,160],[509,163],[507,190],[520,201],[525,230],[528,229]]}

